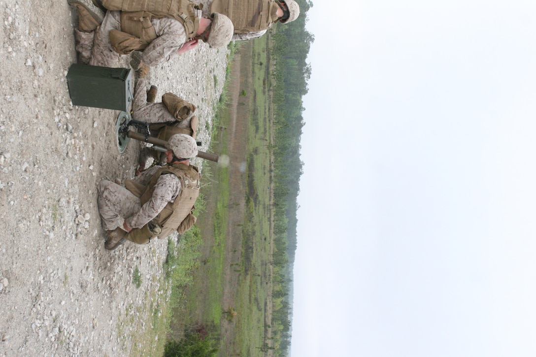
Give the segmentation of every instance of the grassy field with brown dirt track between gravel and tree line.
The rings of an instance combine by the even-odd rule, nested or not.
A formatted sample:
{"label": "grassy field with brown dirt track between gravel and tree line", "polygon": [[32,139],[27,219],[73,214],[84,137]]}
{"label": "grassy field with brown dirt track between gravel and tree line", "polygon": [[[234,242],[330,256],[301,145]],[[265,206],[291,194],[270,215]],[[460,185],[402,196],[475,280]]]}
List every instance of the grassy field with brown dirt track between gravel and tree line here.
{"label": "grassy field with brown dirt track between gravel and tree line", "polygon": [[245,43],[229,72],[228,109],[218,113],[212,151],[228,154],[230,165],[204,168],[206,208],[196,224],[203,247],[197,264],[188,265],[191,280],[173,292],[169,338],[203,326],[219,334],[219,356],[272,355],[277,346],[270,329],[272,114],[264,37]]}

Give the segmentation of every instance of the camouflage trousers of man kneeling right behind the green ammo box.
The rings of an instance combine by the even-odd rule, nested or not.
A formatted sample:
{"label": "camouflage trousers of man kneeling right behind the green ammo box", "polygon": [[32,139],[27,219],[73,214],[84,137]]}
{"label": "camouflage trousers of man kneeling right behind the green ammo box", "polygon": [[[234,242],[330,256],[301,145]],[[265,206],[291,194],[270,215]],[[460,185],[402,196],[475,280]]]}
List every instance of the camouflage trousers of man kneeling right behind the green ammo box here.
{"label": "camouflage trousers of man kneeling right behind the green ammo box", "polygon": [[117,67],[121,55],[111,48],[110,30],[121,30],[119,11],[107,11],[102,24],[92,32],[75,30],[78,63],[94,66]]}

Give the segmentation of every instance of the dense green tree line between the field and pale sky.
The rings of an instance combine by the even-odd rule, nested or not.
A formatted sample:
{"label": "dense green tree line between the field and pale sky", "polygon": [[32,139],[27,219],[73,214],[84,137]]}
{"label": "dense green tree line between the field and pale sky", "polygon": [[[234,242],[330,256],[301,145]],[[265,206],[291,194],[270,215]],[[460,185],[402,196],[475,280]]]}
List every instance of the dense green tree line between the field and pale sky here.
{"label": "dense green tree line between the field and pale sky", "polygon": [[276,355],[286,356],[291,343],[292,271],[296,239],[297,195],[303,162],[300,140],[305,124],[302,96],[309,91],[311,66],[306,62],[314,35],[305,29],[312,2],[297,0],[300,17],[270,31],[270,62],[274,105],[274,281],[272,331]]}

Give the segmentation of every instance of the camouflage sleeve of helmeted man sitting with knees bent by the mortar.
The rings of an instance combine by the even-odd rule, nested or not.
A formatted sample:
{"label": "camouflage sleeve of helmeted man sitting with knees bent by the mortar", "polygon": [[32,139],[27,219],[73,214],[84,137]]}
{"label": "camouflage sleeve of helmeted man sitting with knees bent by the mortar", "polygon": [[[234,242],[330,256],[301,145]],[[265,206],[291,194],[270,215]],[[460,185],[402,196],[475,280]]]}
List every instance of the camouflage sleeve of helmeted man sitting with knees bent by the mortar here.
{"label": "camouflage sleeve of helmeted man sitting with knees bent by the mortar", "polygon": [[161,175],[154,186],[153,196],[142,208],[131,217],[125,219],[132,228],[141,228],[148,221],[157,217],[166,204],[174,200],[181,190],[181,181],[173,174]]}

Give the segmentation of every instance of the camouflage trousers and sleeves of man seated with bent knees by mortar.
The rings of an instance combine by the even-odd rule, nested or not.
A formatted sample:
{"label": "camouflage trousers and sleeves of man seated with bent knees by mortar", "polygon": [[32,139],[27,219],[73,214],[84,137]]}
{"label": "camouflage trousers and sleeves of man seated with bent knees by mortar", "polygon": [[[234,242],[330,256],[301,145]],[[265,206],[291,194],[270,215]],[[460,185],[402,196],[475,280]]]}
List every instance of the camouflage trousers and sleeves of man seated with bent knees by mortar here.
{"label": "camouflage trousers and sleeves of man seated with bent knees by mortar", "polygon": [[[142,175],[134,178],[137,183],[147,185],[154,173],[161,166],[154,166]],[[97,185],[97,203],[106,230],[114,230],[126,225],[131,228],[142,228],[147,222],[157,217],[168,202],[173,202],[181,191],[181,181],[173,174],[161,175],[158,178],[153,195],[142,207],[140,200],[129,190],[116,183],[102,180]]]}

